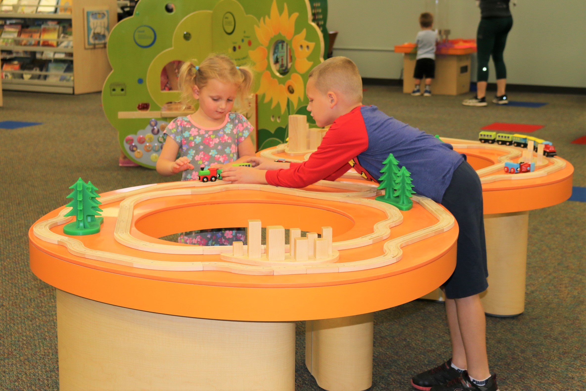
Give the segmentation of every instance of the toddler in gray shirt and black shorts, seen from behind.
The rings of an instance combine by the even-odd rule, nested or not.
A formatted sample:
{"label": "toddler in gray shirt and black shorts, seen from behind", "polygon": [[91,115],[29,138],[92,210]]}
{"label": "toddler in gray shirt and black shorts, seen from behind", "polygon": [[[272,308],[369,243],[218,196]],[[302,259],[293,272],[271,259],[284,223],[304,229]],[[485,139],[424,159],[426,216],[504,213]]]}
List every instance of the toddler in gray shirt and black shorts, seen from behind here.
{"label": "toddler in gray shirt and black shorts, seen from behind", "polygon": [[435,42],[437,33],[432,30],[434,16],[424,12],[419,16],[421,31],[417,33],[417,59],[415,61],[415,88],[411,95],[420,96],[421,79],[425,77],[425,90],[423,96],[431,96],[431,79],[435,77]]}

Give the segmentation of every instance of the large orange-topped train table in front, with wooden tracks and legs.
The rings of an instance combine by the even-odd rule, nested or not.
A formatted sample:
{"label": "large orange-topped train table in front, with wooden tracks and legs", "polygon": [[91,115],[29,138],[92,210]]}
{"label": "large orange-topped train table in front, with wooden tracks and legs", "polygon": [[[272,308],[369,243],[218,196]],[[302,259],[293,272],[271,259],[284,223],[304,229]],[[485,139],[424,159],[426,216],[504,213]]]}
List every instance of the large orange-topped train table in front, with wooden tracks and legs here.
{"label": "large orange-topped train table in front, with wooden tracks and legs", "polygon": [[[458,237],[430,199],[400,212],[379,194],[325,181],[139,186],[101,195],[104,223],[88,236],[63,233],[70,208],[47,213],[29,230],[30,267],[57,288],[60,389],[293,390],[297,320],[319,386],[367,389],[373,312],[440,286]],[[248,226],[247,246],[157,239],[234,226]],[[308,232],[295,254],[277,246],[282,227]],[[305,259],[301,243],[315,248]]]}

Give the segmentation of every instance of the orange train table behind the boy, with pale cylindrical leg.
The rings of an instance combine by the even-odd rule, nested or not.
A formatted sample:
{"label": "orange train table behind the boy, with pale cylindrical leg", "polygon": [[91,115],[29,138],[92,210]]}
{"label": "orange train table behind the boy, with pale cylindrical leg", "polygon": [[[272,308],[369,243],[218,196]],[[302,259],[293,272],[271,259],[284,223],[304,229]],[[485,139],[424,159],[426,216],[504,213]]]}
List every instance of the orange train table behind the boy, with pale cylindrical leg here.
{"label": "orange train table behind the boy, with pale cylindrical leg", "polygon": [[[489,270],[489,288],[481,294],[485,311],[501,317],[519,315],[525,304],[529,210],[557,205],[570,198],[574,168],[560,157],[539,158],[532,152],[536,171],[506,174],[505,162],[519,161],[527,149],[454,138],[441,140],[465,154],[481,177]],[[304,161],[312,150],[304,152],[292,154],[286,144],[281,144],[258,155]],[[355,172],[348,172],[339,181],[364,182],[361,179]],[[425,298],[444,300],[441,290]]]}

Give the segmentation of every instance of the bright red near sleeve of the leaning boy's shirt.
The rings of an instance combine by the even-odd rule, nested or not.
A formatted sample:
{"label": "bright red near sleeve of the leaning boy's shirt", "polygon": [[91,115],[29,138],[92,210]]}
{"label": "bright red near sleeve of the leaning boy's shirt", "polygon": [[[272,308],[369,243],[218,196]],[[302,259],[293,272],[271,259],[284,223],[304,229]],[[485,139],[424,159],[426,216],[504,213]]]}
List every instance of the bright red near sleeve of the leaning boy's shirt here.
{"label": "bright red near sleeve of the leaning boy's shirt", "polygon": [[366,126],[360,111],[356,114],[333,123],[307,161],[291,163],[288,169],[267,171],[268,184],[304,188],[321,179],[333,181],[342,176],[350,169],[349,161],[368,148]]}

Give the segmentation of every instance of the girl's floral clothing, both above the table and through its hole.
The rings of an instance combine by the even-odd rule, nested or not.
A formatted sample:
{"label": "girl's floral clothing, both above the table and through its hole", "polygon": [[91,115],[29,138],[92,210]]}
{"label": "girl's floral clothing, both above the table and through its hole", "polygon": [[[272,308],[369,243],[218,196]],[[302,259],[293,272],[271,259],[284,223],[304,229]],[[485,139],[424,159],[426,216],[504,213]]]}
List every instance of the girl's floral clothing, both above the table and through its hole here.
{"label": "girl's floral clothing, both above the table and through its hole", "polygon": [[[248,137],[254,128],[244,115],[226,114],[224,123],[216,128],[197,125],[191,116],[178,117],[165,129],[179,145],[180,155],[189,158],[193,170],[183,171],[182,181],[197,178],[201,166],[209,168],[214,163],[226,164],[238,159],[238,145]],[[179,234],[179,243],[197,246],[230,246],[233,242],[246,243],[246,228],[218,228],[183,232]]]}

